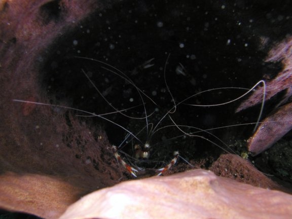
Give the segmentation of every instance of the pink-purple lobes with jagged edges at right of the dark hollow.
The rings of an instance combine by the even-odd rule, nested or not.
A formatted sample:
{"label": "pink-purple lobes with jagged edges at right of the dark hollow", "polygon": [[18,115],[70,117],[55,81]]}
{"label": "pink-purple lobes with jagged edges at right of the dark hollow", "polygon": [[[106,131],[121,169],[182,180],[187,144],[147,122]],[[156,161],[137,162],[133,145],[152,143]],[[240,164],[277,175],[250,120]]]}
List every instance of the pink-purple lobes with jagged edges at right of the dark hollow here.
{"label": "pink-purple lobes with jagged edges at right of the dark hollow", "polygon": [[[278,107],[286,102],[292,96],[292,38],[288,38],[282,43],[275,46],[269,53],[267,62],[283,63],[283,69],[277,77],[269,82],[266,86],[266,100],[271,99],[280,92],[285,92],[282,99],[279,99],[276,110],[262,121],[257,131],[248,140],[248,150],[253,155],[258,155],[261,152],[271,147],[273,143],[284,136],[292,129],[292,106],[288,103]],[[236,112],[242,111],[245,108],[262,102],[263,89],[257,89],[247,100],[243,101],[236,109]],[[278,107],[278,108],[277,108]]]}

